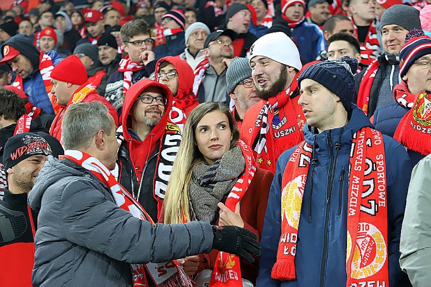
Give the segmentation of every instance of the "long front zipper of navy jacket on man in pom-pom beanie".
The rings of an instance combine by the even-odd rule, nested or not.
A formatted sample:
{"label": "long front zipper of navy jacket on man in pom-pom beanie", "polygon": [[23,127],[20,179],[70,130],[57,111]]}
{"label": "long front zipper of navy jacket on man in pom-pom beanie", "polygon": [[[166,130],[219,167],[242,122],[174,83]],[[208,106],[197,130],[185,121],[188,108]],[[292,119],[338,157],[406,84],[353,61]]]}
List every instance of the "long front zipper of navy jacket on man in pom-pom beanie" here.
{"label": "long front zipper of navy jacket on man in pom-pom beanie", "polygon": [[324,227],[324,237],[323,237],[323,254],[322,254],[322,262],[320,267],[320,287],[324,285],[325,272],[326,272],[326,256],[328,252],[328,233],[329,233],[329,212],[330,212],[330,201],[329,198],[331,196],[332,183],[331,179],[333,179],[333,165],[334,165],[334,150],[332,146],[331,139],[331,130],[328,131],[327,134],[327,142],[330,154],[330,164],[329,164],[329,175],[328,175],[328,190],[326,192],[327,200],[326,200],[326,212],[325,212],[325,227]]}

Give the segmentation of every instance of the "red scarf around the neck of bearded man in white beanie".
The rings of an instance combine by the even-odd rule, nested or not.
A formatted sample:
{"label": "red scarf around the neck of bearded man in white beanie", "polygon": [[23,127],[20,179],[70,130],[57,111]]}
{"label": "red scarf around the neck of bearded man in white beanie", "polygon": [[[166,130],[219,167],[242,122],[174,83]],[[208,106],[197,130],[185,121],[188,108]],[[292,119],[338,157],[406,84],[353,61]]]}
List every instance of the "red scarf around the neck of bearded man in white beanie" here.
{"label": "red scarf around the neck of bearded man in white beanie", "polygon": [[[287,149],[294,147],[304,140],[303,132],[298,128],[290,95],[296,89],[296,81],[285,91],[271,97],[262,107],[251,132],[252,149],[257,154],[258,167],[264,168],[275,174],[278,157]],[[283,145],[274,145],[274,131],[284,131]],[[281,136],[281,133],[279,133]]]}

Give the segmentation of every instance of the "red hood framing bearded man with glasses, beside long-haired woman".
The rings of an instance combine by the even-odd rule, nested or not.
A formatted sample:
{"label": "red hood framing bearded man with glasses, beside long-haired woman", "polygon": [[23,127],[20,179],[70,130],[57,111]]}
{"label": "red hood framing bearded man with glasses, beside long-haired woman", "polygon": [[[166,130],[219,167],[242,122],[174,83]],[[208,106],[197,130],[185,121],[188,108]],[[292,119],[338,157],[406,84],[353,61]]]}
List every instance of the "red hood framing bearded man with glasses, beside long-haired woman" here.
{"label": "red hood framing bearded man with glasses, beside long-haired woman", "polygon": [[124,98],[124,104],[121,114],[121,125],[123,126],[124,139],[127,141],[132,140],[134,144],[141,145],[141,142],[134,139],[127,129],[132,128],[132,116],[129,115],[132,106],[135,103],[136,99],[138,99],[138,96],[148,87],[159,87],[163,91],[163,97],[167,99],[166,106],[164,106],[164,114],[161,117],[160,122],[155,127],[153,127],[148,136],[143,139],[143,143],[151,142],[150,150],[152,151],[154,147],[158,144],[159,139],[164,134],[168,115],[172,107],[172,93],[166,85],[150,79],[141,79],[138,82],[134,83],[127,90],[127,93]]}

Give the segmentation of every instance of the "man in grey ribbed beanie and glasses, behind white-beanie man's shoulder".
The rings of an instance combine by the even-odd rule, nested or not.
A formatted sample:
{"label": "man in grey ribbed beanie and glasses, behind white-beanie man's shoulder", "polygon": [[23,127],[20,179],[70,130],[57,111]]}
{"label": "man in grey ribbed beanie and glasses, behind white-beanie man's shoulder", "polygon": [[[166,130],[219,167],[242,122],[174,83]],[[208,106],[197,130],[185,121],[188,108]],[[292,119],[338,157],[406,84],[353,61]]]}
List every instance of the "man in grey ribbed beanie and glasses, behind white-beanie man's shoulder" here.
{"label": "man in grey ribbed beanie and glasses, behind white-beanie man's shoulder", "polygon": [[235,57],[232,60],[226,72],[226,82],[229,97],[235,103],[232,115],[239,130],[241,130],[245,112],[251,106],[261,101],[261,98],[257,97],[256,87],[251,77],[251,69],[247,59]]}

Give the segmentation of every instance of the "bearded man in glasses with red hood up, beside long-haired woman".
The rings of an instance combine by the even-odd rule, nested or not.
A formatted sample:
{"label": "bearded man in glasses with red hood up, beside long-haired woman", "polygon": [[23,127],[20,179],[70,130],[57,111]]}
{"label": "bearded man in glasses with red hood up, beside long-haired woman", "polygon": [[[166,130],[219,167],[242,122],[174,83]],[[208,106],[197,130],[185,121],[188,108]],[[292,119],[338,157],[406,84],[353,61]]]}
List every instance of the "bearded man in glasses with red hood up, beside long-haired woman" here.
{"label": "bearded man in glasses with red hood up, beside long-haired woman", "polygon": [[126,93],[117,130],[118,182],[155,222],[181,142],[180,128],[169,121],[172,101],[166,85],[138,81]]}

